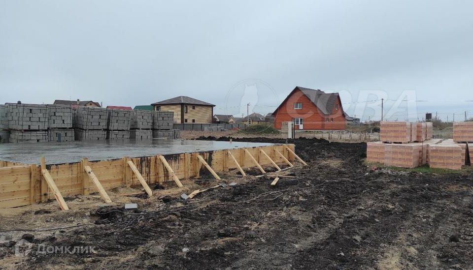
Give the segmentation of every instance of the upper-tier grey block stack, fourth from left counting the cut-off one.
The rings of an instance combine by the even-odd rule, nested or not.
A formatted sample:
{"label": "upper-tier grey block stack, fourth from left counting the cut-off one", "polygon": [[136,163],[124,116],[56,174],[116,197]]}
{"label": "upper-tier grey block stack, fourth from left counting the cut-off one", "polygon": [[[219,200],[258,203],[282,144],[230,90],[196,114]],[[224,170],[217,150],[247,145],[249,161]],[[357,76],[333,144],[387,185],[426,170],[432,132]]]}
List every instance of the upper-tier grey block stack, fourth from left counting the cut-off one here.
{"label": "upper-tier grey block stack, fourth from left counting the cut-off one", "polygon": [[74,122],[74,128],[82,130],[106,130],[108,110],[98,107],[78,107]]}

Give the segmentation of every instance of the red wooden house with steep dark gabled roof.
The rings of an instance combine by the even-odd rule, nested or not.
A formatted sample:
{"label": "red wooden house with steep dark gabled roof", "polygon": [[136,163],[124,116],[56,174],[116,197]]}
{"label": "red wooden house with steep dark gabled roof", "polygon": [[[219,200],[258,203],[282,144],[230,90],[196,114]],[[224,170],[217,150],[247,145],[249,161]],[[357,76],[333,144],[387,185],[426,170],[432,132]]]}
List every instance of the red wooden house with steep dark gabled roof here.
{"label": "red wooden house with steep dark gabled roof", "polygon": [[293,121],[295,129],[340,130],[346,128],[345,112],[338,93],[296,87],[272,113],[274,127]]}

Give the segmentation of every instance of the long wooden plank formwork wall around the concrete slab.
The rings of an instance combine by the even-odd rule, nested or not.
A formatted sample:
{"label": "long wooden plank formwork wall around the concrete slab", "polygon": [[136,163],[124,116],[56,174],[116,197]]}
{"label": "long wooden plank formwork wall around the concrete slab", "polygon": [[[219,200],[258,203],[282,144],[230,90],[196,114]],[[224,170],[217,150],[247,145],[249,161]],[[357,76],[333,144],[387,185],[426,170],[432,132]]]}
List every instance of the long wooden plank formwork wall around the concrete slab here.
{"label": "long wooden plank formwork wall around the concrete slab", "polygon": [[[208,174],[203,162],[198,158],[199,155],[214,172],[218,173],[237,168],[237,164],[228,152],[233,155],[241,167],[248,168],[256,166],[251,156],[260,165],[272,166],[271,159],[277,164],[285,164],[287,161],[294,162],[295,156],[291,153],[294,149],[293,144],[285,144],[168,154],[163,157],[178,179],[190,179]],[[135,164],[147,184],[174,181],[173,175],[169,173],[166,164],[163,164],[160,155],[100,161],[89,161],[87,158],[83,158],[80,162],[65,164],[45,165],[44,162],[41,162],[42,164],[39,166],[0,161],[0,208],[19,207],[55,199],[53,190],[42,174],[41,170],[44,169],[49,172],[63,197],[99,192],[84,170],[87,166],[90,167],[105,190],[120,186],[140,185],[141,183],[128,161]]]}

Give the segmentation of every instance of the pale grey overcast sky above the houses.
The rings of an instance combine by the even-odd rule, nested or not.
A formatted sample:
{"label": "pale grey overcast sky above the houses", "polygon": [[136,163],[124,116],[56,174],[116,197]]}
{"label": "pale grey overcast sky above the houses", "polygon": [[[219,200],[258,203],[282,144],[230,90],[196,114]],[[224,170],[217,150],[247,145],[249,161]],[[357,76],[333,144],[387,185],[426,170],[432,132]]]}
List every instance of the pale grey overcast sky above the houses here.
{"label": "pale grey overcast sky above the houses", "polygon": [[[0,0],[0,102],[187,95],[219,114],[239,114],[246,99],[268,113],[302,86],[340,92],[349,114],[376,118],[348,103],[403,91],[472,100],[472,10],[468,0]],[[391,118],[405,118],[402,106]],[[473,102],[408,114],[426,111],[472,117]]]}

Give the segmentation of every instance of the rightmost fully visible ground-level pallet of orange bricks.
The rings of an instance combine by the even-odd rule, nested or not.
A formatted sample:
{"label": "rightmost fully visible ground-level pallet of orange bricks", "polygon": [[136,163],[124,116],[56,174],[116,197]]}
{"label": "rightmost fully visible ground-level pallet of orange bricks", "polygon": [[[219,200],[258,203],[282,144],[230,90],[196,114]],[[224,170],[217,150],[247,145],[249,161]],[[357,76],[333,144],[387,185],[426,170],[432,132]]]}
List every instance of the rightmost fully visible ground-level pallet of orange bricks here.
{"label": "rightmost fully visible ground-level pallet of orange bricks", "polygon": [[428,147],[431,168],[462,169],[462,148],[459,145],[436,144]]}

